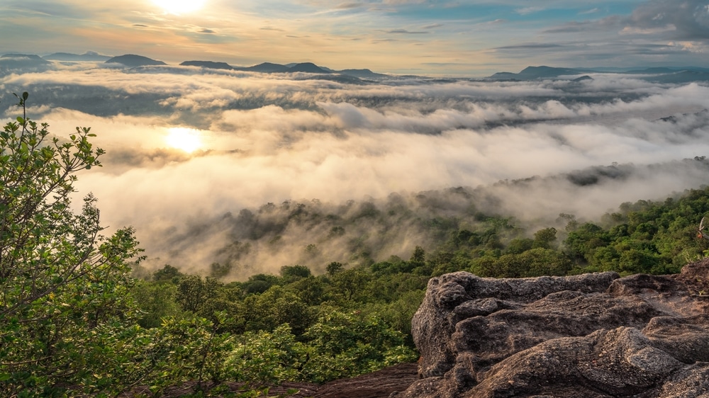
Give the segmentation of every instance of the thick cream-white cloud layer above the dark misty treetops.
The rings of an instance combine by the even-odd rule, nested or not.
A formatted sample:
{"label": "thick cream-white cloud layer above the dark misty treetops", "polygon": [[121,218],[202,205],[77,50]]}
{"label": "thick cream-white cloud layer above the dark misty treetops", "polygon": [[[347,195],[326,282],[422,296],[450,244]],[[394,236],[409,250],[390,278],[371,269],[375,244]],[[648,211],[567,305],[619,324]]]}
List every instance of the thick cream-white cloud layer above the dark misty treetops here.
{"label": "thick cream-white cloud layer above the dark misty treetops", "polygon": [[[108,155],[103,169],[80,176],[81,193],[96,194],[106,224],[133,224],[150,256],[179,266],[206,266],[228,244],[214,221],[221,215],[269,202],[337,205],[484,186],[520,217],[591,217],[706,181],[697,169],[677,175],[676,166],[643,166],[709,153],[708,118],[682,115],[709,108],[709,87],[700,84],[605,74],[580,84],[394,79],[348,86],[302,77],[69,69],[1,77],[0,90],[28,87],[36,104],[30,115],[57,134],[91,126]],[[0,99],[13,117],[11,101]],[[676,120],[658,120],[670,115]],[[205,152],[168,147],[167,128],[180,125],[199,129]],[[637,167],[623,183],[592,188],[557,180],[495,185],[613,162]],[[200,220],[216,223],[216,240],[172,258],[169,241]],[[303,243],[289,237],[295,248]],[[285,260],[264,251],[254,261],[267,269]]]}

